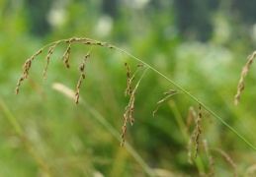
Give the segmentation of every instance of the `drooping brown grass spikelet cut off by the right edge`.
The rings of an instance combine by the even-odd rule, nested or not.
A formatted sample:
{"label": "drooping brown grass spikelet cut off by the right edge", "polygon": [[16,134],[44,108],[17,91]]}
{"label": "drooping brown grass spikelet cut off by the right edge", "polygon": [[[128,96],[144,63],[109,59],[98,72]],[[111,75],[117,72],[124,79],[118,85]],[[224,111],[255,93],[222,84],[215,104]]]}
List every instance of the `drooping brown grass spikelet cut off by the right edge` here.
{"label": "drooping brown grass spikelet cut off by the right edge", "polygon": [[237,105],[239,103],[240,100],[240,96],[241,96],[241,92],[244,89],[244,79],[249,71],[250,65],[252,64],[253,59],[256,56],[256,51],[254,51],[251,55],[248,56],[248,60],[247,63],[244,65],[241,76],[240,76],[240,80],[237,86],[237,92],[234,96],[234,104]]}

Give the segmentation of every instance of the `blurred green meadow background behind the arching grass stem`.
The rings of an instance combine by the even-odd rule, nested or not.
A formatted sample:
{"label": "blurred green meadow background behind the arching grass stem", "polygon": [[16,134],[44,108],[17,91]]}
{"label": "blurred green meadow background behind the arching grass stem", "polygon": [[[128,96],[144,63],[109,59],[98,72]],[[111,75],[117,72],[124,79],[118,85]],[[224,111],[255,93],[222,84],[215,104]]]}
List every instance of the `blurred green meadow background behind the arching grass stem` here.
{"label": "blurred green meadow background behind the arching grass stem", "polygon": [[[233,103],[242,66],[256,45],[255,6],[256,1],[249,0],[0,0],[0,176],[211,172],[202,142],[200,156],[193,158],[193,165],[188,163],[188,136],[195,125],[189,132],[181,125],[186,124],[189,107],[197,109],[197,103],[177,94],[153,117],[162,93],[175,88],[152,71],[137,89],[135,124],[128,124],[126,147],[120,147],[128,104],[124,63],[134,72],[137,62],[124,59],[119,51],[93,48],[80,93],[84,103],[75,105],[52,89],[54,83],[76,89],[77,67],[89,50],[81,43],[72,44],[69,70],[60,61],[66,45],[56,46],[43,82],[45,49],[15,95],[25,61],[45,44],[72,36],[108,41],[142,59],[191,91],[256,146],[254,64],[240,104]],[[228,152],[239,176],[252,174],[253,149],[204,109],[201,127],[209,148]],[[225,157],[210,152],[215,176],[232,176],[234,168]]]}

